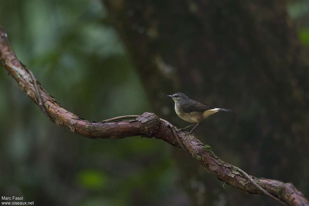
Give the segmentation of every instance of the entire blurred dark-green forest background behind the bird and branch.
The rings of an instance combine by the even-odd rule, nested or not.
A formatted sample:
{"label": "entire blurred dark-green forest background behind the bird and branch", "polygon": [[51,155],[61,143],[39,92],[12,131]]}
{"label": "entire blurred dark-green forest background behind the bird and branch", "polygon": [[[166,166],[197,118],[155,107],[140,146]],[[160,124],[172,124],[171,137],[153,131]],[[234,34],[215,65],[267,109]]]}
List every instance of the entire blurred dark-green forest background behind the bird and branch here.
{"label": "entire blurred dark-green forest background behind the bird and branch", "polygon": [[[87,120],[151,111],[166,95],[217,113],[196,129],[224,161],[309,197],[309,1],[0,0],[20,61]],[[2,67],[1,67],[2,68]],[[91,140],[50,122],[0,70],[0,194],[35,205],[280,205],[215,179],[157,139]]]}

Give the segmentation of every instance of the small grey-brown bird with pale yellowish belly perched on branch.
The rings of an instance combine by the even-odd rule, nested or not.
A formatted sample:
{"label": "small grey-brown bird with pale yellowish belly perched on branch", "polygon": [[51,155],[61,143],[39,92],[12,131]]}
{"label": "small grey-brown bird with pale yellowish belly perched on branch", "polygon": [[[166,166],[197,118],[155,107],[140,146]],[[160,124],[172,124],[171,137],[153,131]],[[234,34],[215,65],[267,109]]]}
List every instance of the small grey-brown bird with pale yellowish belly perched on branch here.
{"label": "small grey-brown bird with pale yellowish belly perched on branch", "polygon": [[[228,112],[232,111],[230,109],[220,109],[207,106],[205,104],[189,99],[187,95],[181,92],[177,92],[173,95],[167,95],[167,96],[171,97],[174,100],[175,111],[176,114],[180,117],[180,119],[195,124],[193,129],[197,127],[197,125],[200,123],[201,120],[207,119],[208,116],[218,111],[228,111]],[[186,128],[189,128],[194,124],[191,124],[180,130],[185,130]],[[189,133],[191,133],[193,129]]]}

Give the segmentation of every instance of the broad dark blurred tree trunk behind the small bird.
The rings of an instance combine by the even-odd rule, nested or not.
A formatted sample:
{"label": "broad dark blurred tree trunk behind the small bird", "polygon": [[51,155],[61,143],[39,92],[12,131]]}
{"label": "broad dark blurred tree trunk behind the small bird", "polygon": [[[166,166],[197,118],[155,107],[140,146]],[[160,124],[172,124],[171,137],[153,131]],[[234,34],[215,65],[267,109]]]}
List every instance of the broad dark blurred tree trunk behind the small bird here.
{"label": "broad dark blurred tree trunk behind the small bird", "polygon": [[[308,198],[308,61],[282,1],[104,1],[154,112],[188,125],[166,95],[232,109],[195,132],[248,174],[292,182]],[[279,205],[207,175],[175,149],[193,205]],[[159,198],[159,197],[158,197]]]}

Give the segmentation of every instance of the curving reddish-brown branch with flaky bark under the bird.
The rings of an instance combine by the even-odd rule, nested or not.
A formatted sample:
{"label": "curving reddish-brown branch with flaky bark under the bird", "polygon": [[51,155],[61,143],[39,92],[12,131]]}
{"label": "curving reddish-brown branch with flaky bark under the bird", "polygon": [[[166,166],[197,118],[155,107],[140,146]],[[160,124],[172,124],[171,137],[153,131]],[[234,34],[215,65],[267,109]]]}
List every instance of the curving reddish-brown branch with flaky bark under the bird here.
{"label": "curving reddish-brown branch with flaky bark under the bird", "polygon": [[[0,62],[16,80],[19,87],[41,107],[41,110],[57,125],[62,125],[70,131],[88,138],[124,138],[131,136],[155,137],[174,146],[183,146],[210,174],[225,183],[250,194],[265,194],[265,190],[278,201],[288,205],[309,206],[308,200],[292,183],[279,180],[256,178],[248,176],[236,166],[222,161],[204,145],[194,134],[186,131],[176,131],[166,120],[153,113],[144,112],[141,116],[130,116],[134,120],[119,120],[120,117],[103,122],[87,121],[61,107],[36,81],[31,71],[17,59],[7,35],[0,25]],[[37,83],[36,83],[37,82]],[[123,118],[123,117],[121,117]],[[177,141],[178,138],[178,142]],[[263,188],[262,190],[256,185]]]}

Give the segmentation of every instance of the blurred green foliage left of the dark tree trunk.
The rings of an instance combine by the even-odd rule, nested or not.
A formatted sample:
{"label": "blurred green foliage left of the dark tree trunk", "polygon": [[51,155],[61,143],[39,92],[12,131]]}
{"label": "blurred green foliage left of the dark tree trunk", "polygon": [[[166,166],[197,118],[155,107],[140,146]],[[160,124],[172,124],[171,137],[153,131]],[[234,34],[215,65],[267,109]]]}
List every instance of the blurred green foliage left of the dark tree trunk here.
{"label": "blurred green foliage left of the dark tree trunk", "polygon": [[[17,57],[66,109],[97,121],[151,111],[101,1],[0,5],[0,22]],[[171,191],[179,189],[170,145],[140,137],[79,137],[50,122],[6,74],[2,68],[2,195],[21,195],[36,205],[171,204]]]}

